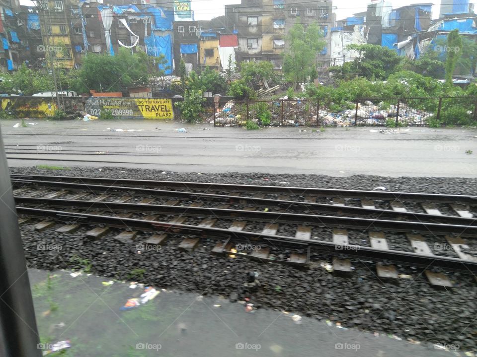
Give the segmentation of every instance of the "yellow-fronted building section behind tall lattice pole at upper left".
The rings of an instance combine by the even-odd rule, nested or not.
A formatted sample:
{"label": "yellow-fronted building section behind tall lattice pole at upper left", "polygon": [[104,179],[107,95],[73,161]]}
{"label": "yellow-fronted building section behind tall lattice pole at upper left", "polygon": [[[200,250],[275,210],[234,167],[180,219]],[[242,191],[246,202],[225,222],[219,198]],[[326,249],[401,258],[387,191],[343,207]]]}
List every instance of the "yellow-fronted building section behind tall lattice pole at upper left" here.
{"label": "yellow-fronted building section behind tall lattice pole at upper left", "polygon": [[71,7],[70,2],[66,4],[63,0],[42,2],[40,28],[43,46],[37,51],[44,52],[45,59],[53,60],[55,66],[71,69],[75,67],[75,58],[65,6]]}

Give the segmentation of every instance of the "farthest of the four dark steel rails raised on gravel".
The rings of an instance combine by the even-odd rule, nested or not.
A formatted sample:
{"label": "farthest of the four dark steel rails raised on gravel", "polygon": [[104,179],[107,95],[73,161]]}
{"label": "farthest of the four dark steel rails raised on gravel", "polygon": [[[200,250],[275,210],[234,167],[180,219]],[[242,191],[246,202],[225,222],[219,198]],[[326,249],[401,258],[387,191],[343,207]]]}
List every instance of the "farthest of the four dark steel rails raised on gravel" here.
{"label": "farthest of the four dark steel rails raised on gravel", "polygon": [[413,192],[391,192],[391,191],[363,191],[363,190],[344,190],[330,188],[309,188],[309,187],[284,187],[284,186],[261,186],[261,185],[241,185],[228,183],[204,183],[204,182],[178,182],[178,181],[154,181],[154,180],[135,180],[135,179],[104,179],[104,178],[86,178],[70,176],[39,176],[39,175],[11,175],[12,181],[45,181],[61,180],[63,182],[73,183],[94,183],[109,185],[134,185],[150,187],[173,187],[179,189],[194,190],[224,190],[239,192],[263,192],[275,194],[293,194],[293,195],[313,195],[319,197],[339,197],[339,198],[360,198],[368,200],[385,201],[416,201],[416,202],[439,202],[439,203],[467,203],[477,205],[477,196],[473,195],[449,195],[436,193],[413,193]]}

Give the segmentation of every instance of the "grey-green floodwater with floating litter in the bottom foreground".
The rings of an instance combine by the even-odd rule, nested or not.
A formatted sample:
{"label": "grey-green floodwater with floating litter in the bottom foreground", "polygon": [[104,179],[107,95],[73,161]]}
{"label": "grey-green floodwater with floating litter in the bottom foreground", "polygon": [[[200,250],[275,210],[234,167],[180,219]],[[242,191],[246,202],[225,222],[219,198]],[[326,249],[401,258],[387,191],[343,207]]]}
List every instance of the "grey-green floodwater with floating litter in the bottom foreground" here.
{"label": "grey-green floodwater with floating litter in the bottom foreground", "polygon": [[29,277],[43,347],[71,345],[51,357],[449,356],[228,297],[132,289],[70,271],[30,269]]}

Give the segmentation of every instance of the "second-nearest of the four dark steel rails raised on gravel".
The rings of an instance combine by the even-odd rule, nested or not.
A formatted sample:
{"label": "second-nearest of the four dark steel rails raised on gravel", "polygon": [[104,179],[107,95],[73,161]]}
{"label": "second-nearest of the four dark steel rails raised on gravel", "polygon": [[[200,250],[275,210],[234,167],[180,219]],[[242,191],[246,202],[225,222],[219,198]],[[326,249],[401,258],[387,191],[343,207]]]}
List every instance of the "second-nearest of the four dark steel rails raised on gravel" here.
{"label": "second-nearest of the four dark steel rails raised on gravel", "polygon": [[338,216],[320,216],[283,212],[260,212],[260,211],[244,211],[233,209],[220,209],[209,207],[189,207],[189,206],[166,206],[153,204],[136,204],[136,203],[116,203],[116,202],[96,202],[81,200],[65,200],[54,198],[33,198],[33,197],[16,197],[15,203],[18,204],[35,204],[35,205],[51,205],[55,207],[69,208],[97,208],[109,209],[111,211],[125,212],[147,212],[163,215],[180,215],[223,219],[244,219],[253,221],[265,221],[276,223],[295,223],[295,224],[313,224],[325,227],[342,227],[350,229],[364,230],[384,230],[405,233],[422,233],[434,235],[460,235],[463,237],[477,237],[477,226],[435,224],[423,222],[408,221],[390,221],[376,220],[368,218],[352,218]]}

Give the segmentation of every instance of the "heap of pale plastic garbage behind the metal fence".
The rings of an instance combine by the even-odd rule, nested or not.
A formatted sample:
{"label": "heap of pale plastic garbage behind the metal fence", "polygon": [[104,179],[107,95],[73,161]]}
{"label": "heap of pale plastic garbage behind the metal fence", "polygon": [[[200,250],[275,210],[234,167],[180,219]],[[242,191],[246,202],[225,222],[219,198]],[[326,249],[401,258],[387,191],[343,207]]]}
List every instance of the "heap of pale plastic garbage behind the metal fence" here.
{"label": "heap of pale plastic garbage behind the metal fence", "polygon": [[[285,97],[283,100],[287,100]],[[281,101],[270,101],[269,110],[272,114],[271,126],[303,126],[303,125],[327,125],[327,126],[351,126],[355,124],[355,109],[344,109],[340,112],[332,112],[327,107],[320,106],[318,120],[316,107],[312,102],[303,99],[286,101],[284,105],[283,121],[281,115]],[[387,108],[387,109],[384,109]],[[358,104],[357,125],[386,125],[388,119],[396,119],[397,105],[387,105],[384,102],[374,105],[366,101]],[[404,103],[399,105],[399,122],[403,126],[424,125],[433,114],[418,109],[413,109]],[[249,119],[257,121],[251,105],[249,106]],[[246,124],[245,105],[235,102],[227,102],[216,113],[217,126],[243,126]],[[213,116],[207,119],[212,123]]]}

